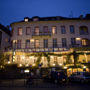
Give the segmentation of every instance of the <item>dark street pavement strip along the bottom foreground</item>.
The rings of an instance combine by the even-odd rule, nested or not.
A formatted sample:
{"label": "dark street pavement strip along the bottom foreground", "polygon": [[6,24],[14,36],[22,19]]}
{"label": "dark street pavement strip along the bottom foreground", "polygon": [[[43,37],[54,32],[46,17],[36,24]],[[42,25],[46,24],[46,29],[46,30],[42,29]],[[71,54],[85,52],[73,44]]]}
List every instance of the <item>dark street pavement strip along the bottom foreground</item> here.
{"label": "dark street pavement strip along the bottom foreground", "polygon": [[32,85],[26,85],[24,79],[7,80],[0,83],[0,90],[90,90],[90,84],[62,83],[57,85],[43,82],[41,79],[33,82]]}

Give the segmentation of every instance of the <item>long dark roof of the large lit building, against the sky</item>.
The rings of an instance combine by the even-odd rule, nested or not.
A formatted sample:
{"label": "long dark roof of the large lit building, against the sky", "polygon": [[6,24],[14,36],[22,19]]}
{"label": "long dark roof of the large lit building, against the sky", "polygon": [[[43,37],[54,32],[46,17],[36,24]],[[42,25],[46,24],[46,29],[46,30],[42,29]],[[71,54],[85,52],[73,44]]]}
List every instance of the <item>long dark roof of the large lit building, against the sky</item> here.
{"label": "long dark roof of the large lit building, against the sky", "polygon": [[[85,17],[83,17],[83,15],[80,15],[80,17],[75,17],[75,18],[69,18],[69,17],[62,17],[62,16],[54,16],[54,17],[39,17],[39,16],[34,16],[32,18],[29,17],[25,17],[26,19],[28,19],[28,22],[34,22],[33,19],[34,18],[38,18],[38,21],[62,21],[62,20],[90,20],[90,14],[86,14]],[[24,19],[25,19],[24,18]],[[18,22],[13,22],[11,23],[21,23],[21,22],[25,22],[24,20],[22,21],[18,21]]]}

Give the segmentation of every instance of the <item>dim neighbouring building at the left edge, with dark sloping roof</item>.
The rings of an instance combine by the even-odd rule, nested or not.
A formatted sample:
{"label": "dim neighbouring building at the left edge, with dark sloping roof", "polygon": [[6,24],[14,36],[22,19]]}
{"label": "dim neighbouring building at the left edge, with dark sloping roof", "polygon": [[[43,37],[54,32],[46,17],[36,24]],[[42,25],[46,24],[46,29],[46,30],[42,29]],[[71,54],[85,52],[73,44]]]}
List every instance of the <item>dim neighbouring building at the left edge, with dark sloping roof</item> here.
{"label": "dim neighbouring building at the left edge, with dark sloping roof", "polygon": [[10,30],[2,24],[0,24],[0,51],[6,51],[11,47],[10,39]]}

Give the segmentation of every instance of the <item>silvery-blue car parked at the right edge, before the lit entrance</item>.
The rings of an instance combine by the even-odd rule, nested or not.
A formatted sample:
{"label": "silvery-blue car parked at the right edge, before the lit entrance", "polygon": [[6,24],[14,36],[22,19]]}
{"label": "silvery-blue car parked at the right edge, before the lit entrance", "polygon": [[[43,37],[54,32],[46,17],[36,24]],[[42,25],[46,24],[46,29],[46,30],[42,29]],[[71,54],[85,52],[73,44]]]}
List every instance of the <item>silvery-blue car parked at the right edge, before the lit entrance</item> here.
{"label": "silvery-blue car parked at the right edge, before the lit entrance", "polygon": [[75,72],[69,78],[69,81],[73,82],[90,82],[90,73],[89,72]]}

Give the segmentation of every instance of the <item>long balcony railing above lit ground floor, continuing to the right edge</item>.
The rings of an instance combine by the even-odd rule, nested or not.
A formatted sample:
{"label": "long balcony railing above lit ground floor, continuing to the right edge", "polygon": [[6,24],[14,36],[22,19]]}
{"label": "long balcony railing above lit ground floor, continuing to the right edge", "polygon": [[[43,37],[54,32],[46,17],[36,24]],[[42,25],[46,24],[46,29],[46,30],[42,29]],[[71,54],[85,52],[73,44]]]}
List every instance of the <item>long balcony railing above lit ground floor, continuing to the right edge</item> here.
{"label": "long balcony railing above lit ground floor, continuing to the right edge", "polygon": [[74,45],[67,45],[67,46],[62,46],[61,43],[57,43],[56,45],[53,46],[53,43],[48,43],[48,46],[44,47],[43,43],[39,43],[38,47],[35,47],[33,44],[28,44],[26,45],[25,43],[19,44],[13,44],[12,50],[15,51],[23,51],[23,52],[60,52],[60,51],[68,51],[70,48],[87,48],[90,46],[83,46],[80,44],[74,44]]}

